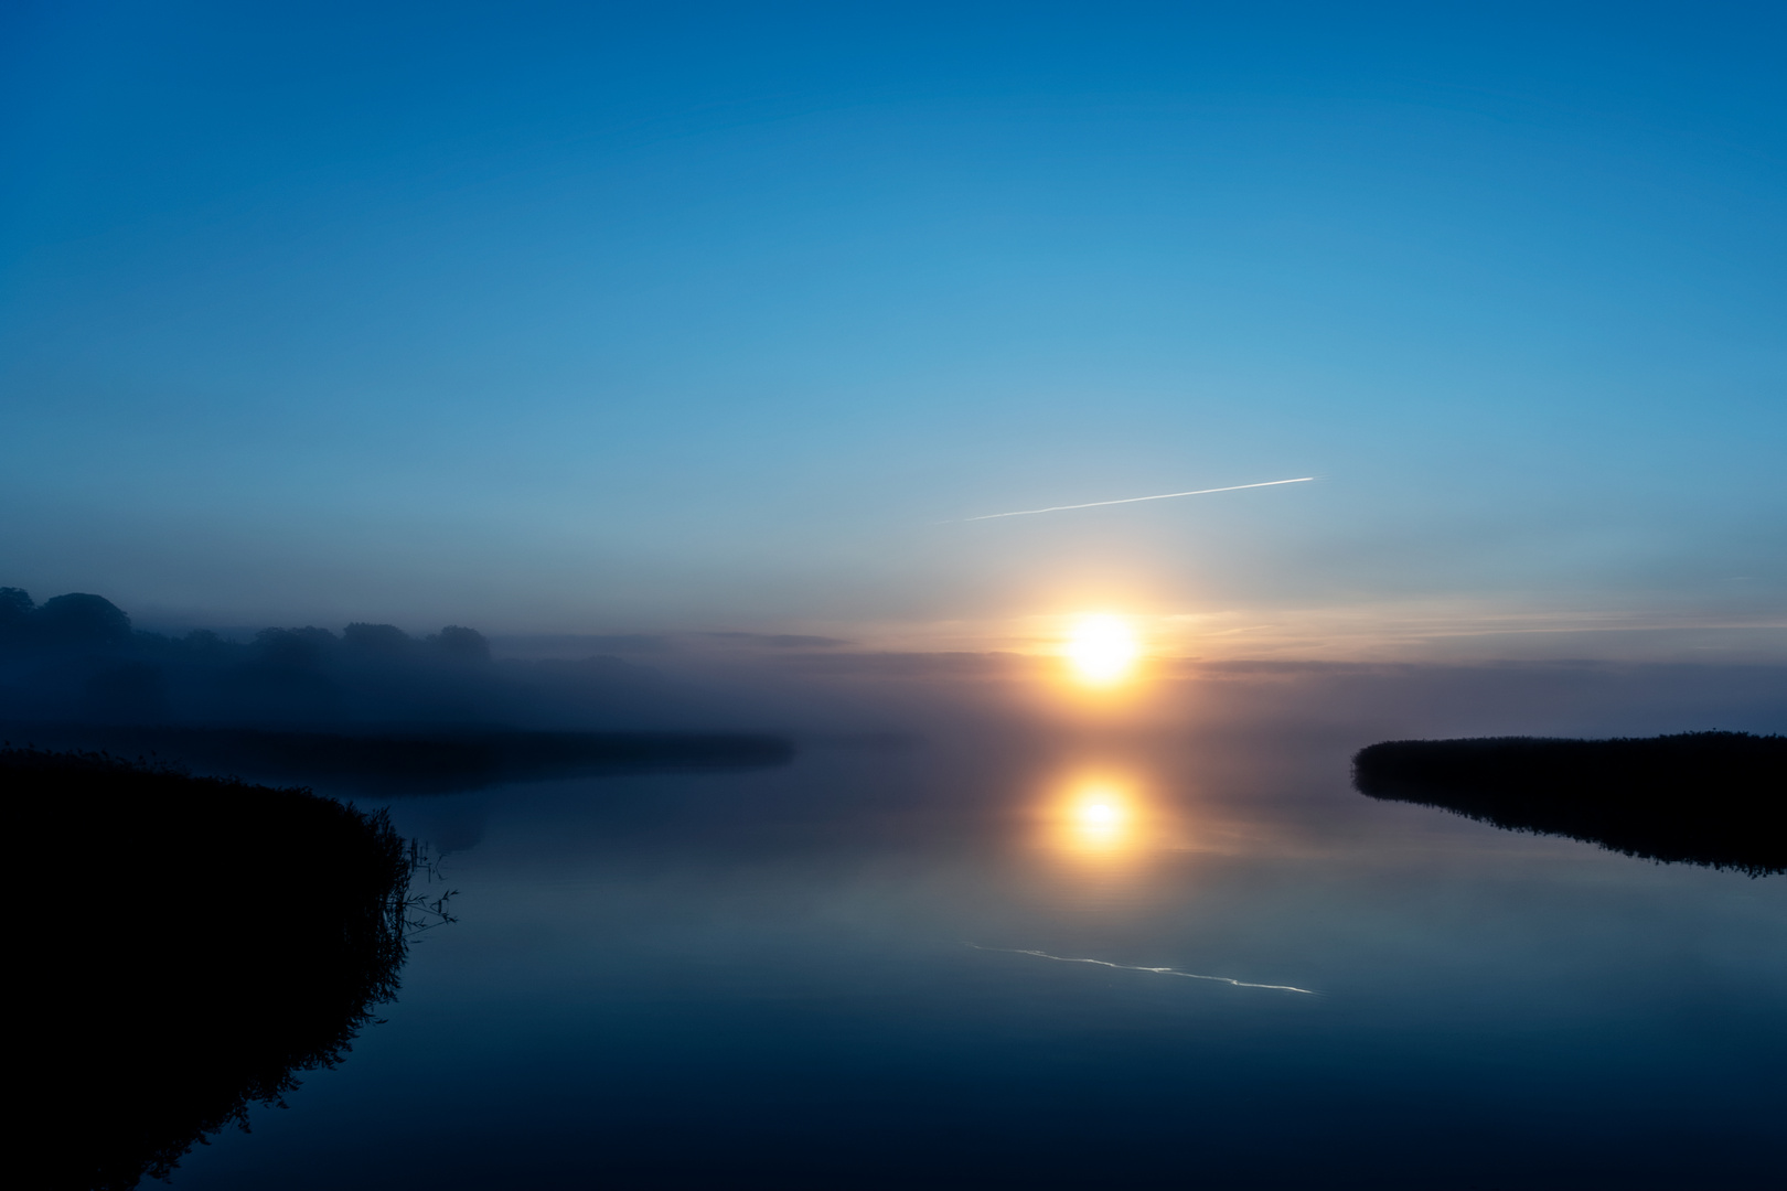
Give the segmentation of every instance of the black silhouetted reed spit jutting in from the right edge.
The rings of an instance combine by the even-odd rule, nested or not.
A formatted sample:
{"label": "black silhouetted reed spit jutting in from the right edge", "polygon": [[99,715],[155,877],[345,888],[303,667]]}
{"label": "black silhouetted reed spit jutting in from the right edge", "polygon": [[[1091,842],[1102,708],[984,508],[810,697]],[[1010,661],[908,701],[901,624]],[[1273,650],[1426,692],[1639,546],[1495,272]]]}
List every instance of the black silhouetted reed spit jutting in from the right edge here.
{"label": "black silhouetted reed spit jutting in from the right edge", "polygon": [[1787,736],[1383,741],[1353,786],[1649,861],[1787,871]]}

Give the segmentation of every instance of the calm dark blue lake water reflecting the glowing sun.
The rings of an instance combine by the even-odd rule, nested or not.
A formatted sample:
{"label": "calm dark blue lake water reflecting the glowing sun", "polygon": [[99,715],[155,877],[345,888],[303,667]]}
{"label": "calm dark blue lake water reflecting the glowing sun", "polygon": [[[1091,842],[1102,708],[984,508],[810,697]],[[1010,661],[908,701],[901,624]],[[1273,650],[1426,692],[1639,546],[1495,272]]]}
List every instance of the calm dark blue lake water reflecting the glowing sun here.
{"label": "calm dark blue lake water reflecting the glowing sun", "polygon": [[1372,802],[1360,743],[402,800],[459,921],[173,1182],[1776,1186],[1787,879]]}

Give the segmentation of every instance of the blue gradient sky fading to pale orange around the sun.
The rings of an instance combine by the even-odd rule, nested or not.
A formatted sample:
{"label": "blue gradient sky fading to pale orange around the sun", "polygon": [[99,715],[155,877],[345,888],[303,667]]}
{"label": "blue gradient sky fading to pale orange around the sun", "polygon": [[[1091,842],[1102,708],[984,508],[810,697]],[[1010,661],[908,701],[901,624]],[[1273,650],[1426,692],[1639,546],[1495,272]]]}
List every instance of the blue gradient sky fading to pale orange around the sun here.
{"label": "blue gradient sky fading to pale orange around the sun", "polygon": [[0,20],[38,598],[1787,654],[1780,5]]}

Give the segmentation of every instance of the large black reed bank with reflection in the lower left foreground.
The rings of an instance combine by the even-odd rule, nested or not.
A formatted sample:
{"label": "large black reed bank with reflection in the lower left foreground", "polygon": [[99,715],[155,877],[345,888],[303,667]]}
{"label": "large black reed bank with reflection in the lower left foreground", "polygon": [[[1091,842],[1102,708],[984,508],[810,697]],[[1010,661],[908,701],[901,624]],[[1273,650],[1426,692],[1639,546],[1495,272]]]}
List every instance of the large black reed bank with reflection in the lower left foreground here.
{"label": "large black reed bank with reflection in the lower left foreground", "polygon": [[0,750],[0,798],[38,1186],[166,1179],[340,1062],[395,998],[416,857],[384,812],[18,748]]}

